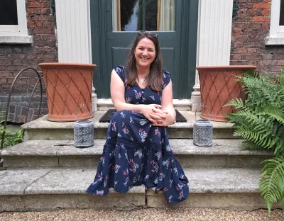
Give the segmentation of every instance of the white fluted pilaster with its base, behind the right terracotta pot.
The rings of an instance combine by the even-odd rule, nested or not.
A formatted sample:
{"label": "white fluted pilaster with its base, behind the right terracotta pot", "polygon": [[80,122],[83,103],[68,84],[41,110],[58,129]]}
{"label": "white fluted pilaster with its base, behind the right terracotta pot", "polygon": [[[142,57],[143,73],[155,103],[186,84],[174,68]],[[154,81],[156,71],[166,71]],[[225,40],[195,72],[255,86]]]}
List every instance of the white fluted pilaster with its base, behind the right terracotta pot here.
{"label": "white fluted pilaster with its base, behind the right terracotta pot", "polygon": [[[197,66],[229,65],[233,1],[200,0],[197,29]],[[200,81],[195,74],[192,111],[200,107]]]}

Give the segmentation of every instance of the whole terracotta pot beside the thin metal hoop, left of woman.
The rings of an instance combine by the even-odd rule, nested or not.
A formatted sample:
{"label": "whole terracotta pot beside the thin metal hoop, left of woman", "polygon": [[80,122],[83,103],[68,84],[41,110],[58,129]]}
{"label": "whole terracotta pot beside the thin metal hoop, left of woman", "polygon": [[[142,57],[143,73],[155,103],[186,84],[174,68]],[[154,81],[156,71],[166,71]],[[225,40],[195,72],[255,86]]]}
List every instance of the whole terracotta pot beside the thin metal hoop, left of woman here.
{"label": "whole terracotta pot beside the thin metal hoop, left of woman", "polygon": [[75,121],[92,118],[92,79],[95,64],[41,63],[48,120]]}

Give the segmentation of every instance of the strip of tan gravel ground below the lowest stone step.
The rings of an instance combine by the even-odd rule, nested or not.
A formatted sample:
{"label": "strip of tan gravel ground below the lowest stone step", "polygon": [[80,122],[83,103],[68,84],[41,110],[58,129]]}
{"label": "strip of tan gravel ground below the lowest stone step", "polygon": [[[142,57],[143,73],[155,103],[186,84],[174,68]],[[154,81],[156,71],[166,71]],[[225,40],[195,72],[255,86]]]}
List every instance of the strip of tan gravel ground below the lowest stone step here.
{"label": "strip of tan gravel ground below the lowest stone step", "polygon": [[131,211],[120,210],[58,210],[52,212],[0,212],[1,221],[13,220],[249,220],[273,221],[284,220],[282,210],[273,210],[268,215],[267,210],[234,211],[213,209],[141,209]]}

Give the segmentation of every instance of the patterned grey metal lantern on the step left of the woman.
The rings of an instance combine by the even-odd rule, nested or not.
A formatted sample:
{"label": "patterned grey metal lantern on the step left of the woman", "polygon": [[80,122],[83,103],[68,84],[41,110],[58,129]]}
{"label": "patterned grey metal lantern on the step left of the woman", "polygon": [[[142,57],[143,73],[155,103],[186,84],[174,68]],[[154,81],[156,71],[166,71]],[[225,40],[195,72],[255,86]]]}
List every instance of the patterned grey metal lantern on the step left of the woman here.
{"label": "patterned grey metal lantern on the step left of the woman", "polygon": [[77,120],[75,122],[74,146],[77,148],[94,146],[94,123],[91,120]]}

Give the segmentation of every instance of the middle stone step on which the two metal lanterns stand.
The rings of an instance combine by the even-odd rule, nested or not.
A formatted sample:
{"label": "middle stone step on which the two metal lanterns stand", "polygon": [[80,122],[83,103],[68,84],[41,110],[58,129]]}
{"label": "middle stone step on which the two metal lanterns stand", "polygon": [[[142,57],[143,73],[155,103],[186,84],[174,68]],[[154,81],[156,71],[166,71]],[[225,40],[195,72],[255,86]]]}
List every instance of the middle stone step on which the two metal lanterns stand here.
{"label": "middle stone step on which the two metal lanterns stand", "polygon": [[[268,151],[239,149],[240,139],[213,140],[212,147],[197,147],[192,139],[170,139],[175,157],[185,168],[260,167],[272,156]],[[28,140],[0,150],[4,167],[86,167],[99,164],[105,140],[94,140],[94,146],[79,149],[74,140]]]}

